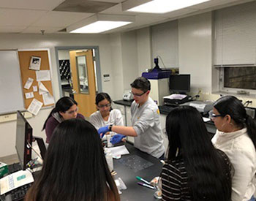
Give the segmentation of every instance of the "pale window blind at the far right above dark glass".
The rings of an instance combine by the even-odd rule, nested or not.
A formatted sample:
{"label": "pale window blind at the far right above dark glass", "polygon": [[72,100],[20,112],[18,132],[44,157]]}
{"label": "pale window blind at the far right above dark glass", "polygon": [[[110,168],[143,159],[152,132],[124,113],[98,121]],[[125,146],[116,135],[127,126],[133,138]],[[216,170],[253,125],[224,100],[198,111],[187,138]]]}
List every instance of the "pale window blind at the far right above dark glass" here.
{"label": "pale window blind at the far right above dark glass", "polygon": [[214,12],[214,65],[256,64],[256,2]]}

